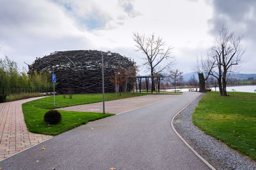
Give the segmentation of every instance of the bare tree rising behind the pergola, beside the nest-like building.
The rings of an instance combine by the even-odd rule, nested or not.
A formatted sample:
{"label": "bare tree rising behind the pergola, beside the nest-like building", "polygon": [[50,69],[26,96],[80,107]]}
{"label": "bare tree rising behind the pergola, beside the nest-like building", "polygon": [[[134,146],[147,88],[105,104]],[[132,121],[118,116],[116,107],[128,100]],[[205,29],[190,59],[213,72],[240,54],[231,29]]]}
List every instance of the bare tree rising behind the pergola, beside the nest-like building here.
{"label": "bare tree rising behind the pergola, beside the nest-like building", "polygon": [[[145,37],[144,34],[138,32],[133,34],[133,39],[136,43],[136,48],[145,54],[145,66],[150,69],[150,75],[152,76],[152,92],[155,90],[154,76],[161,73],[170,64],[173,63],[173,57],[170,55],[172,48],[166,46],[166,43],[160,37],[155,37],[154,34]],[[165,60],[165,61],[164,61]]]}

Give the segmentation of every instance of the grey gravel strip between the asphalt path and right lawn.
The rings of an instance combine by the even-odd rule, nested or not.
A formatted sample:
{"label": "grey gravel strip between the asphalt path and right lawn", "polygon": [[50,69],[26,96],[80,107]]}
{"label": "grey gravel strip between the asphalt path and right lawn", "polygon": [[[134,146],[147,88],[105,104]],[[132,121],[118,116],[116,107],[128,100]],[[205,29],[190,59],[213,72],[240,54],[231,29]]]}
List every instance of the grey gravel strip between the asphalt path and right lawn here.
{"label": "grey gravel strip between the asphalt path and right lawn", "polygon": [[256,169],[255,162],[204,134],[191,122],[191,113],[202,97],[198,97],[175,117],[173,125],[180,136],[216,169]]}

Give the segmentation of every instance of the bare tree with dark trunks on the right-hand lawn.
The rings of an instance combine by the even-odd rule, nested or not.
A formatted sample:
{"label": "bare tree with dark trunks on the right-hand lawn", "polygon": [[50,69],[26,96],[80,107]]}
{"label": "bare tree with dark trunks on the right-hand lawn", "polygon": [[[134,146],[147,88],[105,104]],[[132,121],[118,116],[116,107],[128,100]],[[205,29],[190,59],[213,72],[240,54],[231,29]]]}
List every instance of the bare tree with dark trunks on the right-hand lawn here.
{"label": "bare tree with dark trunks on the right-hand lawn", "polygon": [[228,27],[223,26],[216,45],[211,49],[211,58],[216,62],[216,69],[212,69],[211,75],[217,78],[220,95],[227,96],[227,81],[230,73],[236,71],[236,65],[241,62],[244,50],[240,47],[241,37],[235,36]]}

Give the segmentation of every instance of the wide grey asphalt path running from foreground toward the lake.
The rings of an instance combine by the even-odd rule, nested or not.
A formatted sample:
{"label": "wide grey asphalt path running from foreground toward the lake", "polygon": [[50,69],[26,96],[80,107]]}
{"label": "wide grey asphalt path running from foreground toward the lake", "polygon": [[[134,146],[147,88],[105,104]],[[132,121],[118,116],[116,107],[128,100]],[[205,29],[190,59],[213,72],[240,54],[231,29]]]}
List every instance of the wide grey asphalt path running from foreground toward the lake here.
{"label": "wide grey asphalt path running from foreground toward the lake", "polygon": [[[186,92],[72,129],[0,162],[5,169],[209,169],[170,122],[200,93]],[[41,150],[42,148],[45,150]]]}

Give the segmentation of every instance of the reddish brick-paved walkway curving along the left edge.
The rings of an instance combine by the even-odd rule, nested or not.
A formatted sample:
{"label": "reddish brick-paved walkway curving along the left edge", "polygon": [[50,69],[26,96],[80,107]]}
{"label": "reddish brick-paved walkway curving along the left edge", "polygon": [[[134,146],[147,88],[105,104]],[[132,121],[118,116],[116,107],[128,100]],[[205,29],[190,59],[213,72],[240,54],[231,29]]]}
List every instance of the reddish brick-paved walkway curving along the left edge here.
{"label": "reddish brick-paved walkway curving along the left edge", "polygon": [[28,132],[24,122],[21,104],[40,98],[0,103],[0,159],[52,137]]}

